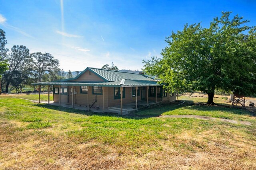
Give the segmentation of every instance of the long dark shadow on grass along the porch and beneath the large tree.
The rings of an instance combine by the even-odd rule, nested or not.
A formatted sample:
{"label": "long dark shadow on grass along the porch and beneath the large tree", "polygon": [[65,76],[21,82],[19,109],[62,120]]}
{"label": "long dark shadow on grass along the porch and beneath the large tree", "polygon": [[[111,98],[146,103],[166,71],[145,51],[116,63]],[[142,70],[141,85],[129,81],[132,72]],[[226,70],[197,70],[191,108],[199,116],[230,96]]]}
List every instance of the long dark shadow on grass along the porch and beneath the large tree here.
{"label": "long dark shadow on grass along the porch and beneath the large tree", "polygon": [[239,109],[239,108],[230,108],[230,106],[226,105],[218,105],[218,106],[208,106],[204,103],[194,103],[193,100],[183,100],[183,101],[176,101],[169,104],[162,104],[160,106],[156,106],[150,109],[140,109],[137,112],[130,113],[128,115],[119,115],[118,113],[97,113],[93,111],[84,111],[79,109],[72,109],[62,106],[54,106],[48,104],[37,104],[33,106],[38,106],[46,109],[54,109],[58,111],[65,111],[67,113],[76,113],[82,115],[98,115],[98,116],[113,116],[113,117],[124,117],[128,119],[145,119],[149,117],[158,117],[167,111],[174,111],[176,109],[182,110],[184,109],[191,109],[191,110],[198,110],[198,111],[224,111],[227,113],[232,113],[236,115],[250,115],[255,116],[255,113]]}

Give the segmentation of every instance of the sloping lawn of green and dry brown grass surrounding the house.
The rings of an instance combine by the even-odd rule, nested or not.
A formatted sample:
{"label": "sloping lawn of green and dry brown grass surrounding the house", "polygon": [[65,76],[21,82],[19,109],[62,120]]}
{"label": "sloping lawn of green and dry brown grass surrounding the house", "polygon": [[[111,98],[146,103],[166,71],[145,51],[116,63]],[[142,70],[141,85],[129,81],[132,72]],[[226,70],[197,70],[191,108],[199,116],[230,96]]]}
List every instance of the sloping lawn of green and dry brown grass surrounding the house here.
{"label": "sloping lawn of green and dry brown grass surrounding the house", "polygon": [[[20,99],[30,96],[0,96],[0,169],[256,169],[256,119],[247,110],[180,97],[182,105],[121,117]],[[252,126],[145,117],[184,114]]]}

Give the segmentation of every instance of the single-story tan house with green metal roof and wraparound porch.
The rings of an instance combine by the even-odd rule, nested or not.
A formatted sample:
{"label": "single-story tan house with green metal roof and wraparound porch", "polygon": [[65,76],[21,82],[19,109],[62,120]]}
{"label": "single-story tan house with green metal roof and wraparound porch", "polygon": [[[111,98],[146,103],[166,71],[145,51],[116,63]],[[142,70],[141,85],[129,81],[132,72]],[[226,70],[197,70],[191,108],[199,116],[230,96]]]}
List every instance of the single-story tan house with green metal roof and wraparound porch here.
{"label": "single-story tan house with green metal roof and wraparound porch", "polygon": [[91,67],[75,78],[33,84],[39,88],[48,85],[48,89],[53,86],[54,104],[72,105],[73,108],[79,105],[87,107],[87,110],[96,106],[103,112],[109,107],[120,106],[121,114],[125,104],[134,103],[137,109],[140,101],[148,105],[149,102],[172,102],[176,99],[175,93],[168,94],[158,80],[146,75]]}

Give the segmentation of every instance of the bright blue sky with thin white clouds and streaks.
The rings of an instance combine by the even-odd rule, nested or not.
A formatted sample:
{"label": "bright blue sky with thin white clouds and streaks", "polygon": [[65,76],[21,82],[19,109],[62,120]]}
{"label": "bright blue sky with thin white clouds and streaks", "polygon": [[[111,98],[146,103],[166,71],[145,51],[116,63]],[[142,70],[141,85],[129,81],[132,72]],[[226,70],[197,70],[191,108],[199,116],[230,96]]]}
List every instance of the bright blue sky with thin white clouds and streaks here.
{"label": "bright blue sky with thin white clouds and streaks", "polygon": [[208,27],[221,11],[232,11],[256,25],[254,0],[0,0],[0,28],[9,49],[51,53],[64,70],[140,70],[142,60],[160,57],[171,31],[186,23]]}

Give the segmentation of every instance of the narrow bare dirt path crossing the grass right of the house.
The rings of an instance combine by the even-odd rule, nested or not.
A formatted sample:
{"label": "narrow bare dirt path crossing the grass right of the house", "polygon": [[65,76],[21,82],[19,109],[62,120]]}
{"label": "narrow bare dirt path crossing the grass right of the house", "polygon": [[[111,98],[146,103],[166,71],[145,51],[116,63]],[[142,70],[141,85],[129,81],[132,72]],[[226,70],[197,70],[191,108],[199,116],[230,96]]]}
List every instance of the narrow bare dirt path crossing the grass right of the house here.
{"label": "narrow bare dirt path crossing the grass right of the house", "polygon": [[251,126],[252,124],[248,121],[236,121],[236,120],[231,120],[231,119],[220,119],[220,118],[215,118],[215,117],[208,117],[208,116],[199,116],[199,115],[162,115],[159,116],[160,118],[195,118],[195,119],[203,119],[203,120],[218,120],[218,121],[226,121],[229,123],[235,123],[235,124],[242,124],[242,125],[249,125]]}

